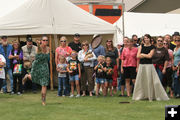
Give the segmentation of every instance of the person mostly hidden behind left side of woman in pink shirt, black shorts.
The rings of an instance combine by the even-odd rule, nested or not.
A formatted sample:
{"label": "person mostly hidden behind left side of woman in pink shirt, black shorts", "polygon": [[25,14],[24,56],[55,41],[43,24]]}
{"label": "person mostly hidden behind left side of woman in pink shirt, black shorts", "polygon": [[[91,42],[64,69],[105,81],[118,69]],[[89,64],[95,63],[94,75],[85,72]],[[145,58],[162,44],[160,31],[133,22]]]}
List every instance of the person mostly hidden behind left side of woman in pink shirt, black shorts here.
{"label": "person mostly hidden behind left side of woman in pink shirt, black shorts", "polygon": [[[123,49],[128,47],[128,44],[127,44],[128,40],[129,40],[128,37],[124,37],[124,39],[123,39],[123,46],[122,46],[122,49],[120,51],[119,60],[121,60],[121,55],[122,55]],[[120,66],[119,68],[121,68],[121,65],[119,65],[119,66]],[[121,72],[121,70],[120,70],[120,72]],[[125,91],[125,77],[124,77],[123,73],[121,73],[121,81],[120,82],[121,82],[121,95],[119,95],[119,96],[121,97],[121,96],[125,96],[124,95],[124,91]]]}

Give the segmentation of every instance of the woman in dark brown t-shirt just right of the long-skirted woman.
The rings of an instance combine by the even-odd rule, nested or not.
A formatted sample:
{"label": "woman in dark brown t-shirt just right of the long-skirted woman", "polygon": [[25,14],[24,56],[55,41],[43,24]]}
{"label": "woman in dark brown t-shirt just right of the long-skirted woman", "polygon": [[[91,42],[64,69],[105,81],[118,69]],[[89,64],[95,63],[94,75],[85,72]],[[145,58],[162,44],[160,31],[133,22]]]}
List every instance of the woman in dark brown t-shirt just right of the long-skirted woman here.
{"label": "woman in dark brown t-shirt just right of the long-skirted woman", "polygon": [[163,37],[158,37],[156,42],[157,46],[152,56],[152,63],[154,64],[159,79],[162,83],[163,75],[166,73],[166,68],[169,61],[169,54],[168,50],[163,47]]}

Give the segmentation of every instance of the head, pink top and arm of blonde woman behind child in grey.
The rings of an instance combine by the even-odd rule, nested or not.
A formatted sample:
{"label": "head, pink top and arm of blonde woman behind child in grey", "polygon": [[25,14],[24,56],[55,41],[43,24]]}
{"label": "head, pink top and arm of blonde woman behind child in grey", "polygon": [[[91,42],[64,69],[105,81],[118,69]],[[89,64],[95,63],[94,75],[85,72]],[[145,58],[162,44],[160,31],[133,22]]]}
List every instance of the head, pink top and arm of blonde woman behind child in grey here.
{"label": "head, pink top and arm of blonde woman behind child in grey", "polygon": [[55,53],[56,65],[59,64],[60,56],[64,56],[65,58],[67,58],[71,55],[72,49],[69,46],[67,46],[66,41],[67,41],[67,38],[65,36],[62,36],[60,38],[60,46],[56,48],[56,53]]}

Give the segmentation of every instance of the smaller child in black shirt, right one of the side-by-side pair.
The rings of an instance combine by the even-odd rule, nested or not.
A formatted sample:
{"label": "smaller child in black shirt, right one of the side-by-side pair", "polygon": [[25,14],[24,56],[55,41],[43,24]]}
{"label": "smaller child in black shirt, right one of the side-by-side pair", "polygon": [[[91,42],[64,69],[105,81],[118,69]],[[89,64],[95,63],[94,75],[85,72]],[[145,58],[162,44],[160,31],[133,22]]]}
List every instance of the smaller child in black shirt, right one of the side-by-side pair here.
{"label": "smaller child in black shirt, right one of the side-by-side pair", "polygon": [[105,95],[107,95],[108,88],[110,89],[110,95],[112,95],[112,82],[113,82],[113,65],[111,63],[111,58],[106,58],[106,63],[104,64],[104,72],[105,72]]}

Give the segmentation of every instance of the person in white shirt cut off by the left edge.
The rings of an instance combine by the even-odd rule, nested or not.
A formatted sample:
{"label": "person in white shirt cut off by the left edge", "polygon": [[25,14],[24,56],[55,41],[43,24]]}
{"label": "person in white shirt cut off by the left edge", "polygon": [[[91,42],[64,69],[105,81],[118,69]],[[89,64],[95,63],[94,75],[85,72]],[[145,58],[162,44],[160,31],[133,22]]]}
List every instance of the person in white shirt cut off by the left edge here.
{"label": "person in white shirt cut off by the left edge", "polygon": [[0,54],[0,90],[3,85],[3,80],[5,80],[5,70],[4,67],[6,65],[6,59],[3,55]]}

